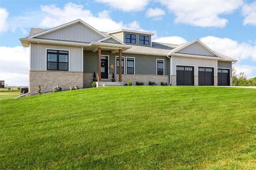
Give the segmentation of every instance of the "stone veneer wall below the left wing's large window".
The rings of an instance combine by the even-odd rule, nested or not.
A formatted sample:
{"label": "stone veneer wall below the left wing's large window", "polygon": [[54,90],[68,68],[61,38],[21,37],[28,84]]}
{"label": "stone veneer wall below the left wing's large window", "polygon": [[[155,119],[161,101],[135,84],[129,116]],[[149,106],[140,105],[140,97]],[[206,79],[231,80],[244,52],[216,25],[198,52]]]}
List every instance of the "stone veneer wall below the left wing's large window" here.
{"label": "stone veneer wall below the left wing's large window", "polygon": [[52,88],[56,85],[62,86],[62,90],[69,90],[72,85],[83,88],[83,72],[30,70],[30,95],[38,94],[39,84],[41,93],[52,92]]}

